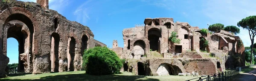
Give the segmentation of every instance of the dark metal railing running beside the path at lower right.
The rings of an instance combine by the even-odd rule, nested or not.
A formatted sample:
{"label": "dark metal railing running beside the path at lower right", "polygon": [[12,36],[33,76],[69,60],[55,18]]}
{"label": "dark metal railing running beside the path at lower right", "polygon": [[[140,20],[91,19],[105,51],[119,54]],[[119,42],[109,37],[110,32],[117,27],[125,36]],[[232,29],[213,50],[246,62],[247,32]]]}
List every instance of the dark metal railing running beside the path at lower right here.
{"label": "dark metal railing running beside the path at lower right", "polygon": [[195,80],[198,79],[196,81],[228,81],[229,79],[231,79],[234,75],[239,74],[239,68],[236,69],[231,69],[225,72],[218,72],[213,74],[212,76],[207,75],[207,78],[202,78],[200,77],[198,78],[194,78],[194,79],[190,79],[187,81],[191,81],[191,80]]}

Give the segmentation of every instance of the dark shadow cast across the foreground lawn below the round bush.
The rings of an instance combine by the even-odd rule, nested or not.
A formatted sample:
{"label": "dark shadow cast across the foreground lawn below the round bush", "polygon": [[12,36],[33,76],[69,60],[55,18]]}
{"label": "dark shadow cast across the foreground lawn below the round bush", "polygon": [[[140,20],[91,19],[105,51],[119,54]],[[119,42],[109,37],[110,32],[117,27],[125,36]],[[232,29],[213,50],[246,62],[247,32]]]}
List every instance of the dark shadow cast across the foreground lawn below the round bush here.
{"label": "dark shadow cast across the foreground lawn below the round bush", "polygon": [[3,79],[4,81],[160,81],[155,78],[146,78],[140,75],[88,75],[67,74],[46,76],[35,80]]}

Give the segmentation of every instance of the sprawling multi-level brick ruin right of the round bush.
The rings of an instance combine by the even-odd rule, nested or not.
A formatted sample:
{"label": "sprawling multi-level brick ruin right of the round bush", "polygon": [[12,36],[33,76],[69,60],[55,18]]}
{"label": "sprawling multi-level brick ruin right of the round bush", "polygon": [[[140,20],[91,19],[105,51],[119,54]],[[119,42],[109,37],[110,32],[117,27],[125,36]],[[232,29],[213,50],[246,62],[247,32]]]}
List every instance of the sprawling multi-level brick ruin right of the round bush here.
{"label": "sprawling multi-level brick ruin right of the round bush", "polygon": [[[199,27],[174,22],[173,18],[146,18],[144,24],[123,29],[124,47],[112,48],[126,59],[123,71],[136,75],[178,75],[193,71],[209,75],[244,66],[243,43],[230,32],[204,34]],[[180,44],[171,45],[168,40],[173,31],[177,32]]]}

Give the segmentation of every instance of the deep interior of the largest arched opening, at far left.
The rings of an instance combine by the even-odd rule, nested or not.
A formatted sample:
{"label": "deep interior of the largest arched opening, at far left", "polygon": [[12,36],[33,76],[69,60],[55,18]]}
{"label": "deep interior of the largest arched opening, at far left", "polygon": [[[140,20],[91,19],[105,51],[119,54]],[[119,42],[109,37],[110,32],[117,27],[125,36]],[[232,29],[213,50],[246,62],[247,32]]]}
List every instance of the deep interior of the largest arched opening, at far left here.
{"label": "deep interior of the largest arched opening, at far left", "polygon": [[[19,72],[32,71],[32,39],[34,26],[32,21],[24,14],[11,14],[3,24],[3,55],[7,55],[7,39],[15,38],[18,43]],[[11,58],[11,57],[9,57]],[[25,71],[26,70],[26,71]]]}

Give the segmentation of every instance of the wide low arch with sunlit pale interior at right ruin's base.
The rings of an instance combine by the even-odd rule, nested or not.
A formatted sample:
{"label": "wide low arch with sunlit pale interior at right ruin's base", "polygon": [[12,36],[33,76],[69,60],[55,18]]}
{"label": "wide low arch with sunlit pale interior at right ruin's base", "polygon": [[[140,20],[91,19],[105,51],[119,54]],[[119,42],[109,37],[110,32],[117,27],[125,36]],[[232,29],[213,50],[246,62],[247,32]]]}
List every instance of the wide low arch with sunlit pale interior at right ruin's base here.
{"label": "wide low arch with sunlit pale interior at right ruin's base", "polygon": [[157,68],[157,74],[158,75],[178,75],[179,73],[182,73],[181,69],[172,64],[163,63],[160,64]]}

